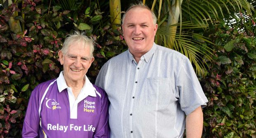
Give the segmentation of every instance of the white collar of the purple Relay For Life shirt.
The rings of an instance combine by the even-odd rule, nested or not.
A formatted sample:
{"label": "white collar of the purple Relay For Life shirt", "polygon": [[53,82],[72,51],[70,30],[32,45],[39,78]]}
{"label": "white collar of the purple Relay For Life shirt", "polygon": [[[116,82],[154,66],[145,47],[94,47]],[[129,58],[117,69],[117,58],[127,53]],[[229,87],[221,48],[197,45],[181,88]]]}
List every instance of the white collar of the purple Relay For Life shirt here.
{"label": "white collar of the purple Relay For Life shirt", "polygon": [[[66,85],[66,80],[64,78],[64,71],[61,71],[59,74],[59,77],[57,78],[57,85],[59,92],[62,92],[64,89],[68,88],[69,86]],[[84,95],[90,95],[92,97],[96,97],[95,87],[93,87],[90,80],[87,78],[87,76],[84,76],[85,84],[83,85],[83,88],[81,90],[81,94]],[[80,95],[80,94],[79,94]]]}

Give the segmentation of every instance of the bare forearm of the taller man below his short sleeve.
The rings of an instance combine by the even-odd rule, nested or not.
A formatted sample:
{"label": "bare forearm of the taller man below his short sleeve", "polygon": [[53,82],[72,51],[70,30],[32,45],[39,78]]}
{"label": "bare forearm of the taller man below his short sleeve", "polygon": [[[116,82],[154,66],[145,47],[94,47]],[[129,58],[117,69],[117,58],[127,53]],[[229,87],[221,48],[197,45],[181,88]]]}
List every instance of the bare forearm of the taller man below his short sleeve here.
{"label": "bare forearm of the taller man below his short sleeve", "polygon": [[186,138],[201,138],[203,131],[203,112],[201,106],[186,117]]}

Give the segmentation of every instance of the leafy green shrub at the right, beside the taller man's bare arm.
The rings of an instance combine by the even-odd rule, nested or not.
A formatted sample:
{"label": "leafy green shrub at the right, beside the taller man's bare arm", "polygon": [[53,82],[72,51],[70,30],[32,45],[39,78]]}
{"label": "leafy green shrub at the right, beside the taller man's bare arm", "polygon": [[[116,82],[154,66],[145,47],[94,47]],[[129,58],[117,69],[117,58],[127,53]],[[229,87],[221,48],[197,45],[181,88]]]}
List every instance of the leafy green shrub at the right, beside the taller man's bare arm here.
{"label": "leafy green shrub at the right, beside the taller man's bare arm", "polygon": [[205,138],[256,137],[256,38],[247,25],[241,33],[220,22],[209,35],[215,52],[201,80],[209,99]]}

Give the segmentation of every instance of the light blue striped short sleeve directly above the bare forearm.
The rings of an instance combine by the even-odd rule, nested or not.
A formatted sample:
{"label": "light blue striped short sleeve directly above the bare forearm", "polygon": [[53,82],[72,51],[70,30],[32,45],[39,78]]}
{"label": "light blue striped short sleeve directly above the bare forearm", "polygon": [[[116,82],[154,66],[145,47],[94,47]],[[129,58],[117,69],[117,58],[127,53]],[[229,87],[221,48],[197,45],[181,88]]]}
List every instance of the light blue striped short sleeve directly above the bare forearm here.
{"label": "light blue striped short sleeve directly above the bare forearm", "polygon": [[199,106],[204,108],[208,102],[188,58],[183,60],[182,67],[180,67],[175,89],[179,94],[180,107],[186,115]]}

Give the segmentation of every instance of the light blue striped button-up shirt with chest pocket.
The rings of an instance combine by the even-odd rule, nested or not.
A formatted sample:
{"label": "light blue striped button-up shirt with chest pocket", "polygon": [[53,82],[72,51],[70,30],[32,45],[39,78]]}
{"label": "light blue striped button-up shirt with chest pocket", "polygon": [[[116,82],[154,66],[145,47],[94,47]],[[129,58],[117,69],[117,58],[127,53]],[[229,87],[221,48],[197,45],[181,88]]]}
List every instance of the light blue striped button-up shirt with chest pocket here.
{"label": "light blue striped button-up shirt with chest pocket", "polygon": [[154,44],[137,64],[125,51],[104,64],[111,138],[182,138],[185,115],[208,102],[188,58]]}

